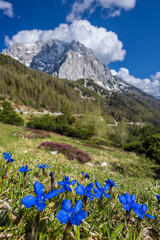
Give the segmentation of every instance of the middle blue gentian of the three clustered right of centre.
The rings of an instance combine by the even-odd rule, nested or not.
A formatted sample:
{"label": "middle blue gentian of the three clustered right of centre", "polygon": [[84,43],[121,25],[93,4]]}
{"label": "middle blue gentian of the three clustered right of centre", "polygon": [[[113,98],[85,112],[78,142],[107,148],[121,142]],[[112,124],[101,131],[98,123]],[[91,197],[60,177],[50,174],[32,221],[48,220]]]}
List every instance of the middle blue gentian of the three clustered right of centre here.
{"label": "middle blue gentian of the three clustered right of centre", "polygon": [[112,198],[112,196],[108,193],[105,193],[105,191],[108,191],[109,189],[109,186],[108,185],[105,185],[104,188],[102,188],[102,185],[98,182],[98,181],[95,181],[95,184],[96,184],[96,187],[97,188],[93,188],[93,191],[96,193],[96,194],[91,194],[92,196],[98,198],[98,199],[101,199],[102,196],[104,195],[105,197],[107,198]]}

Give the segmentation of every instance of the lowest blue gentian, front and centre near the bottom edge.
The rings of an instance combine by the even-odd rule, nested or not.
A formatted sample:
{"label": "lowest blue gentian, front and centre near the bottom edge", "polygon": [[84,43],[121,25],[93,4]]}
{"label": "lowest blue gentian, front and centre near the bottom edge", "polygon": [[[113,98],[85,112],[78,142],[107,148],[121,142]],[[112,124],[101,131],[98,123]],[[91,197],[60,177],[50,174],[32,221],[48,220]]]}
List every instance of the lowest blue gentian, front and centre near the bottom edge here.
{"label": "lowest blue gentian, front and centre near the bottom edge", "polygon": [[82,211],[82,200],[78,200],[75,207],[72,208],[71,201],[68,199],[63,200],[62,209],[57,213],[57,219],[60,223],[67,223],[79,226],[84,218],[87,217],[87,212]]}

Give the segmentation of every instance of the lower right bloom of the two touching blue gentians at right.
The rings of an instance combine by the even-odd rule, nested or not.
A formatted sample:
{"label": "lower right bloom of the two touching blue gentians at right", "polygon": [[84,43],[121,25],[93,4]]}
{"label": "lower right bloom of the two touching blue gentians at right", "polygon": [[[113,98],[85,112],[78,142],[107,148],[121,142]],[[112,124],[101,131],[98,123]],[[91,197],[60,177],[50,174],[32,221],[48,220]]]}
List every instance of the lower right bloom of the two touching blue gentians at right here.
{"label": "lower right bloom of the two touching blue gentians at right", "polygon": [[146,217],[149,217],[151,219],[155,219],[152,215],[146,214],[148,207],[146,204],[139,204],[139,203],[134,203],[132,205],[133,211],[138,215],[139,218],[144,218],[143,215]]}

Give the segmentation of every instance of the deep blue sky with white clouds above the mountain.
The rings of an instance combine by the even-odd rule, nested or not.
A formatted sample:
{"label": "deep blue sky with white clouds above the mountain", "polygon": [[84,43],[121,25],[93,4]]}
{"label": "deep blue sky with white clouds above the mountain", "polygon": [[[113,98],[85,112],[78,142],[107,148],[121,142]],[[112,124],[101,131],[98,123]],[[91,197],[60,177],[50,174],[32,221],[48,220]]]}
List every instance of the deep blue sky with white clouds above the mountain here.
{"label": "deep blue sky with white clouds above the mountain", "polygon": [[0,0],[0,52],[15,42],[79,40],[112,74],[160,97],[159,12],[159,0]]}

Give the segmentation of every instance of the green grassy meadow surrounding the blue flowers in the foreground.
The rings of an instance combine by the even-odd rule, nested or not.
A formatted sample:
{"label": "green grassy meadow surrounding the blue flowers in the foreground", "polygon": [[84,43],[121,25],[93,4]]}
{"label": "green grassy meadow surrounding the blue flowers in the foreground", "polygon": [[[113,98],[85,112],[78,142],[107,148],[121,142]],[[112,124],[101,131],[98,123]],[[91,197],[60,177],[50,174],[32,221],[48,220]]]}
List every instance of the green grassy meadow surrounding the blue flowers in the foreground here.
{"label": "green grassy meadow surrounding the blue flowers in the foreground", "polygon": [[[128,153],[121,149],[106,146],[89,145],[86,141],[68,138],[56,133],[36,136],[32,130],[0,123],[0,239],[160,239],[160,206],[156,195],[160,195],[160,166],[153,160]],[[52,141],[66,143],[85,151],[91,156],[89,163],[68,160],[61,153],[52,155],[50,150],[38,148],[42,142]],[[8,164],[8,173],[3,178],[6,160],[3,152],[11,152],[16,161]],[[28,165],[29,171],[24,181],[21,166]],[[38,164],[47,164],[46,175]],[[105,166],[102,166],[105,165]],[[108,179],[114,180],[119,188],[112,190],[112,199],[94,198],[87,201],[85,210],[88,216],[80,226],[73,225],[66,235],[66,224],[61,224],[56,215],[61,209],[62,201],[69,199],[72,206],[79,196],[75,187],[72,192],[59,193],[46,201],[46,208],[38,212],[35,206],[27,209],[21,199],[27,195],[35,196],[34,183],[39,181],[45,193],[51,190],[50,172],[55,171],[55,188],[60,189],[58,181],[69,176],[70,181],[81,182],[85,172],[90,179],[81,182],[84,186],[95,181],[105,185]],[[139,219],[131,211],[129,218],[119,202],[124,193],[135,194],[136,202],[147,204],[148,217]]]}

